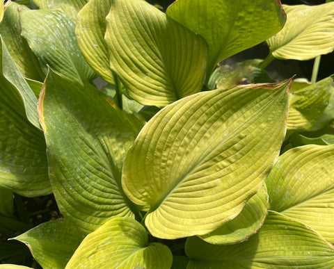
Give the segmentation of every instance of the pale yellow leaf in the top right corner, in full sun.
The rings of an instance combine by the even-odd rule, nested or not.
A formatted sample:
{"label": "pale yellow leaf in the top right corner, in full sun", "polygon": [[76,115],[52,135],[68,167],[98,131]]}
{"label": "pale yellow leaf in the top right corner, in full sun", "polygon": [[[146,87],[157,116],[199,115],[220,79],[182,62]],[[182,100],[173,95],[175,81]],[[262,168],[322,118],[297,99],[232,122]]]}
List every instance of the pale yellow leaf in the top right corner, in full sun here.
{"label": "pale yellow leaf in the top right corner, in full sun", "polygon": [[278,59],[309,60],[334,49],[334,3],[286,6],[287,22],[267,40]]}

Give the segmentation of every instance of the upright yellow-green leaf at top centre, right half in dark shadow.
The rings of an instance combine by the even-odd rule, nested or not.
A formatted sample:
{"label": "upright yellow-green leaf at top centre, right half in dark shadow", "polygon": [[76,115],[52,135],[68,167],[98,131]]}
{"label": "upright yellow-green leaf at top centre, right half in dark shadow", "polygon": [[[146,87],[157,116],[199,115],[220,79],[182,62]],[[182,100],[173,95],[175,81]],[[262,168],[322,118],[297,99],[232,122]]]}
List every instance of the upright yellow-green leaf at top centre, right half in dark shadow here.
{"label": "upright yellow-green leaf at top centre, right half in dark shadow", "polygon": [[113,0],[106,17],[110,65],[130,97],[166,106],[199,92],[207,44],[143,0]]}

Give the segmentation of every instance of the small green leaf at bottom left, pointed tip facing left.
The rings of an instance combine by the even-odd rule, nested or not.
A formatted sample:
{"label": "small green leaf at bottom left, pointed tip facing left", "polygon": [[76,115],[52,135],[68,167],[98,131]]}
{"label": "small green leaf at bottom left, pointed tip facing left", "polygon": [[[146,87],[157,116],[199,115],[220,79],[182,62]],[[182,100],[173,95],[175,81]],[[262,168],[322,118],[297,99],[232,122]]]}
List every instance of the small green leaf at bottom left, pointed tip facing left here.
{"label": "small green leaf at bottom left, pointed tip facing left", "polygon": [[42,223],[13,238],[26,244],[43,269],[65,268],[84,234],[77,225],[62,220]]}

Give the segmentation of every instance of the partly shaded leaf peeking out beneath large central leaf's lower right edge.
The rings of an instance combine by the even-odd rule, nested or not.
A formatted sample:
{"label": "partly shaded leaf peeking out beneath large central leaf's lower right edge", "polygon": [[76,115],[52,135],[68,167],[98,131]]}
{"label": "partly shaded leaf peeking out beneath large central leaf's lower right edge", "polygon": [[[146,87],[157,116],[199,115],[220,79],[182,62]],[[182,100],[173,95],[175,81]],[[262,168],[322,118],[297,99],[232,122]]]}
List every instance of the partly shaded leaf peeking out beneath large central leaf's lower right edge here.
{"label": "partly shaded leaf peeking out beneath large central leaf's lower right edge", "polygon": [[248,200],[237,217],[211,233],[200,236],[200,238],[215,245],[245,241],[260,229],[267,216],[268,208],[268,193],[264,185],[260,191]]}

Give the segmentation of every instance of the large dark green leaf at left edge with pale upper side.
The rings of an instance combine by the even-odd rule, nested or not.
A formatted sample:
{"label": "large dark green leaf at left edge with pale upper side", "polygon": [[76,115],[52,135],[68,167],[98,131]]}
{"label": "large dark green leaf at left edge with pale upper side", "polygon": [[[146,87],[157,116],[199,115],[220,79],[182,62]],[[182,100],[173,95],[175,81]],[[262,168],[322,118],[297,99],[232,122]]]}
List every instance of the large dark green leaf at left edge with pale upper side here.
{"label": "large dark green leaf at left edge with pale upper side", "polygon": [[34,197],[51,193],[37,99],[0,38],[0,187]]}

